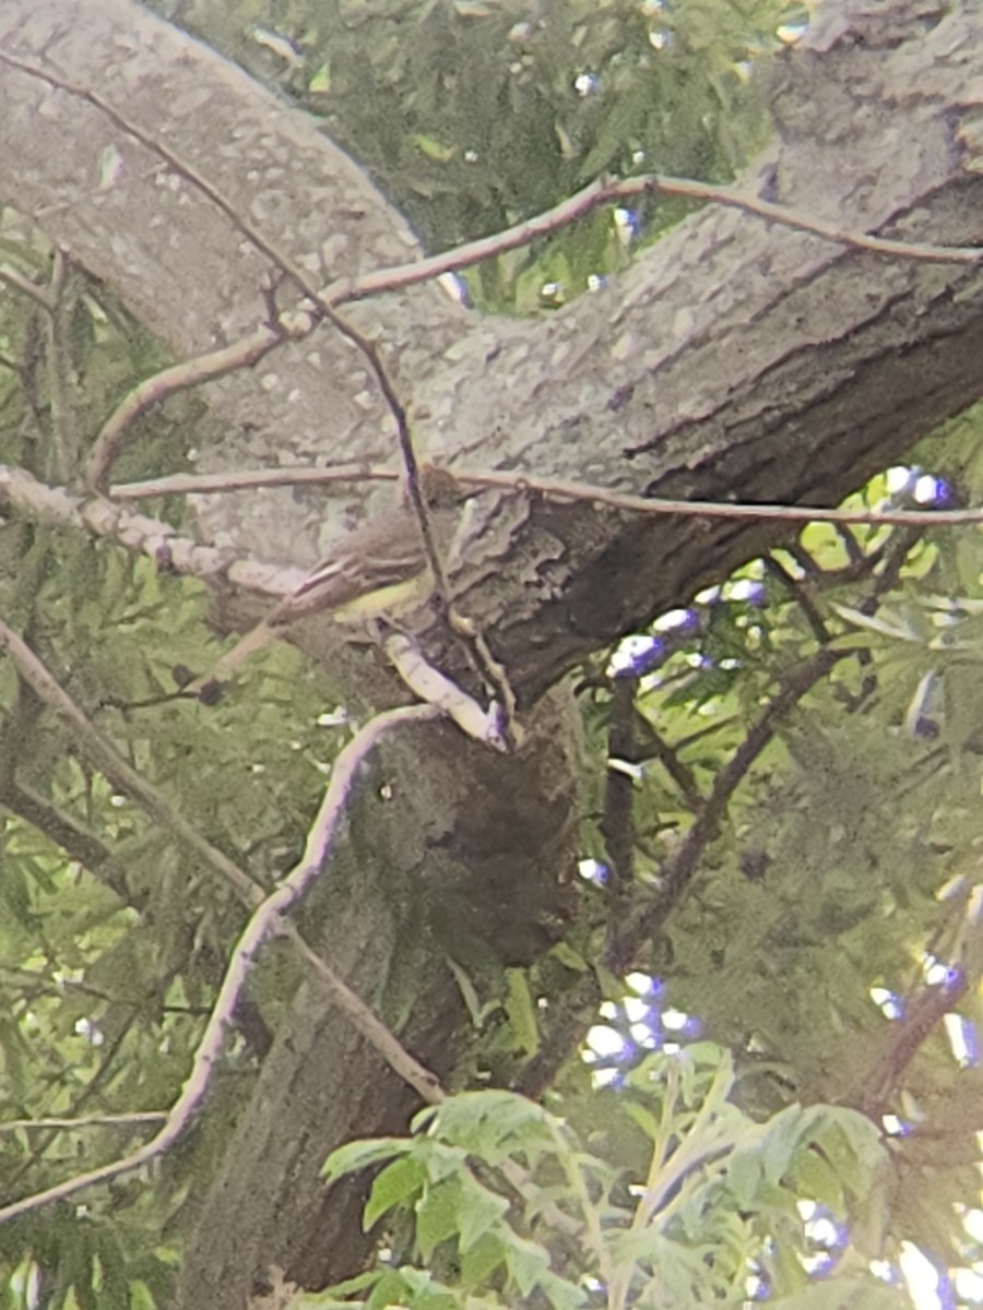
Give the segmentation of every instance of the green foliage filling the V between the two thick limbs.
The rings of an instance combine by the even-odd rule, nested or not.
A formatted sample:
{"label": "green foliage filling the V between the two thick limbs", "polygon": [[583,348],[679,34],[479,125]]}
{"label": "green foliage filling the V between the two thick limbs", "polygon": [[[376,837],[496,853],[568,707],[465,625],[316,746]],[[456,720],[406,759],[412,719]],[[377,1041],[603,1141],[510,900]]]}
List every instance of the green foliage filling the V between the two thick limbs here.
{"label": "green foliage filling the V between the two thick limbs", "polygon": [[[754,72],[793,8],[191,0],[178,21],[317,115],[427,245],[447,249],[549,208],[602,173],[733,177],[767,138]],[[649,206],[649,238],[685,211],[675,200]],[[482,304],[530,312],[544,283],[569,299],[625,262],[606,212],[468,280]]]}

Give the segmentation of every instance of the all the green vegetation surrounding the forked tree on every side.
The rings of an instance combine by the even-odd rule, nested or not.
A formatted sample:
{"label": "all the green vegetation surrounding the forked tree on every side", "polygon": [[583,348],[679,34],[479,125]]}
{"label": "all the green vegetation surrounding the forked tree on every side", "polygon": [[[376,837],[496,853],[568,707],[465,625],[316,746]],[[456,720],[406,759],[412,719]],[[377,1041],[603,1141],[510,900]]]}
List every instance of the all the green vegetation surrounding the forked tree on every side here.
{"label": "all the green vegetation surrounding the forked tree on every side", "polygon": [[[731,177],[767,139],[761,72],[780,24],[803,17],[725,0],[156,8],[317,115],[431,249],[604,170]],[[468,293],[545,312],[616,274],[680,212],[599,214],[481,266]],[[0,259],[38,282],[52,267],[12,212]],[[59,304],[50,325],[9,284],[0,299],[0,458],[54,481],[56,434],[84,444],[163,363],[80,274]],[[194,400],[169,403],[121,476],[172,472],[163,452],[174,432],[190,448],[198,417]],[[979,436],[971,413],[917,453],[931,477],[883,476],[858,503],[979,503]],[[166,510],[180,519],[180,504]],[[914,1247],[940,1271],[983,1260],[982,571],[975,528],[811,525],[583,669],[581,912],[561,946],[510,972],[507,992],[461,979],[476,1030],[459,1083],[533,1086],[549,1068],[549,1014],[588,976],[606,1002],[587,1055],[549,1068],[545,1110],[472,1093],[415,1137],[374,1148],[392,1161],[370,1205],[388,1224],[388,1263],[332,1297],[811,1310],[906,1303],[896,1271]],[[299,656],[269,652],[246,694],[216,707],[144,703],[173,690],[174,665],[214,658],[199,588],[24,521],[0,532],[0,604],[214,844],[270,883],[299,854],[345,740],[330,688]],[[769,728],[776,697],[813,668]],[[159,1111],[186,1076],[244,910],[80,757],[9,662],[0,700],[0,1121]],[[701,799],[761,724],[769,741],[689,895],[653,933],[645,972],[620,977],[608,926],[625,880],[658,889]],[[274,946],[207,1115],[152,1178],[0,1229],[0,1305],[168,1305],[189,1191],[295,984]],[[4,1131],[3,1197],[144,1132]],[[332,1169],[367,1158],[353,1151]],[[955,1288],[949,1303],[980,1298],[965,1272]]]}

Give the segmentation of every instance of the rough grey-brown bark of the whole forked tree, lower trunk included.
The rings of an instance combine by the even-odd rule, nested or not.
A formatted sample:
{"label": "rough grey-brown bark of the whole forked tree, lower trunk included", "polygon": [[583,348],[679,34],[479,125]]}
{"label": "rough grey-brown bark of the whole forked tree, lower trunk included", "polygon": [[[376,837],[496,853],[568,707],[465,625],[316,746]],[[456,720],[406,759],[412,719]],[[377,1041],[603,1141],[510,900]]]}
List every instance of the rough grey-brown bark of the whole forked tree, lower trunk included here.
{"label": "rough grey-brown bark of the whole forked tree, lower trunk included", "polygon": [[[130,0],[5,0],[0,55],[35,66],[0,62],[0,195],[181,358],[262,320],[269,261],[79,88],[204,174],[324,282],[417,254],[398,215],[330,141]],[[980,98],[983,20],[969,0],[830,3],[776,64],[777,141],[743,187],[845,229],[980,242]],[[608,290],[547,321],[472,316],[430,286],[347,313],[383,343],[430,458],[636,493],[828,504],[979,397],[982,305],[976,266],[889,259],[710,208]],[[211,466],[393,457],[368,371],[326,326],[204,394]],[[318,498],[304,504],[300,546],[288,493],[203,498],[199,520],[204,533],[303,562],[343,512]],[[404,786],[398,819],[360,815],[360,899],[338,892],[322,943],[355,985],[375,994],[380,943],[400,931],[400,896],[387,899],[374,872],[389,866],[404,888],[457,878],[489,913],[505,905],[490,945],[511,959],[535,954],[527,910],[562,910],[575,850],[575,749],[560,726],[562,697],[544,693],[585,654],[687,601],[773,533],[482,498],[456,593],[507,668],[531,743],[503,761],[447,728],[401,744],[415,753],[412,770],[398,753],[391,765]],[[421,637],[456,667],[436,625]],[[548,803],[528,799],[540,793]],[[440,1068],[453,1062],[456,1009],[431,960],[406,1036]],[[304,990],[207,1193],[182,1305],[241,1306],[274,1262],[307,1285],[349,1272],[364,1250],[359,1218],[321,1196],[317,1167],[354,1132],[401,1127],[410,1104]]]}

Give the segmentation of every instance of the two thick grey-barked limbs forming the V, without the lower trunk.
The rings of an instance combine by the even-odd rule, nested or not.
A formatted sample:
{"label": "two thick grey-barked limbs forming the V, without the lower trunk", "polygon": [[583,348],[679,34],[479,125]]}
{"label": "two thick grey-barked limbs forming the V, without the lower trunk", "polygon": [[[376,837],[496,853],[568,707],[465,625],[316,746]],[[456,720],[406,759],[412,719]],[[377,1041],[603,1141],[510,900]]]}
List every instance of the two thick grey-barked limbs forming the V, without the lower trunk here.
{"label": "two thick grey-barked limbs forming the V, without the lower trunk", "polygon": [[[831,7],[780,62],[779,141],[743,185],[844,228],[971,244],[979,14],[858,8],[876,13]],[[128,0],[12,0],[0,41],[119,106],[325,282],[412,255],[405,225],[342,152]],[[266,261],[210,200],[77,97],[9,67],[0,96],[7,198],[178,354],[256,325]],[[113,152],[123,162],[105,185]],[[979,299],[975,267],[862,254],[710,208],[547,321],[467,314],[433,287],[350,316],[385,343],[430,458],[819,504],[978,397]],[[367,371],[326,328],[207,394],[222,434],[212,464],[393,456]],[[461,570],[463,608],[527,698],[763,540],[578,507],[512,506],[507,528],[488,516],[484,550],[471,542]],[[321,499],[299,521],[288,493],[224,496],[202,521],[271,558],[309,558],[337,531]]]}

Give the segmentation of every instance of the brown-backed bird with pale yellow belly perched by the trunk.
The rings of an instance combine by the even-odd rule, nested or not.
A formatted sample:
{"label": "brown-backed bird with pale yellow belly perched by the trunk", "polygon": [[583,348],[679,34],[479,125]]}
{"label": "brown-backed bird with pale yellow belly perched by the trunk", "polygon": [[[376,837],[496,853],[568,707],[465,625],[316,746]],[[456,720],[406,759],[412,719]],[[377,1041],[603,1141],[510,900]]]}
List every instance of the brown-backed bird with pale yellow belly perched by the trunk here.
{"label": "brown-backed bird with pale yellow belly perched by the trunk", "polygon": [[[469,494],[451,473],[425,465],[419,490],[435,545],[446,546]],[[433,587],[419,517],[405,493],[383,517],[370,519],[338,540],[300,586],[277,605],[202,677],[186,688],[198,693],[224,681],[256,651],[301,618],[334,613],[366,620],[426,600]]]}

